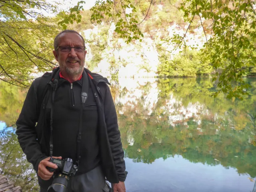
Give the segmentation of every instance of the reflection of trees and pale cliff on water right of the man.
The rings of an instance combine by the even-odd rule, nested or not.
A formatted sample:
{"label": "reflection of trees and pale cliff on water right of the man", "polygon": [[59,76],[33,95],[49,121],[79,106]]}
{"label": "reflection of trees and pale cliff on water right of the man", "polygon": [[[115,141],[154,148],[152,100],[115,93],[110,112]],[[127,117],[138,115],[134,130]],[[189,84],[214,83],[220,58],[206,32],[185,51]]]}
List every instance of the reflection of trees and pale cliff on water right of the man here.
{"label": "reflection of trees and pale cliff on water right of the man", "polygon": [[[119,97],[126,99],[119,99],[116,108],[125,156],[152,163],[178,154],[193,163],[221,164],[255,177],[256,148],[246,115],[256,108],[255,80],[250,84],[251,95],[242,102],[224,95],[214,99],[208,79],[158,79],[135,87],[141,91],[137,95],[131,89],[121,96],[123,88]],[[148,101],[152,93],[157,99]]]}

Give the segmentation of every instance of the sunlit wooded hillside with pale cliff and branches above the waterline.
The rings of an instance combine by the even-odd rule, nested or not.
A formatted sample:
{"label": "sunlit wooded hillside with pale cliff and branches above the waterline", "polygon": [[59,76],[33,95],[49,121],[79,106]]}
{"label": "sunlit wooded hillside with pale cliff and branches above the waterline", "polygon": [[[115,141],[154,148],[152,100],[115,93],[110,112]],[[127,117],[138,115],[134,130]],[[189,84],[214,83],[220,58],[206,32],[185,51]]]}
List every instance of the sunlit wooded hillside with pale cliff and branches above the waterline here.
{"label": "sunlit wooded hillside with pale cliff and branches above the waterline", "polygon": [[[63,29],[86,39],[86,67],[104,76],[210,76],[217,91],[243,99],[256,74],[252,0],[0,0],[0,77],[29,87],[50,71],[53,40]],[[91,4],[91,2],[90,2]]]}

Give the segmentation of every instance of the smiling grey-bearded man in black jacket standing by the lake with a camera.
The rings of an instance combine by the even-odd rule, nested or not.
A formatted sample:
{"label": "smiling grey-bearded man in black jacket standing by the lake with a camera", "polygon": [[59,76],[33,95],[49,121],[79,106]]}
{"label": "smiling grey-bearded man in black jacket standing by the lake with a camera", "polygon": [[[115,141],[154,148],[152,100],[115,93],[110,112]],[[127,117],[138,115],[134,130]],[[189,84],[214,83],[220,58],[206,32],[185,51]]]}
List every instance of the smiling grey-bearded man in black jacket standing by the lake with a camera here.
{"label": "smiling grey-bearded man in black jacket standing by the lake with a camera", "polygon": [[16,122],[41,192],[53,181],[46,167],[57,168],[50,154],[78,164],[68,191],[107,191],[106,177],[114,192],[125,192],[124,151],[108,80],[84,68],[84,38],[76,31],[60,32],[53,54],[60,67],[34,80]]}

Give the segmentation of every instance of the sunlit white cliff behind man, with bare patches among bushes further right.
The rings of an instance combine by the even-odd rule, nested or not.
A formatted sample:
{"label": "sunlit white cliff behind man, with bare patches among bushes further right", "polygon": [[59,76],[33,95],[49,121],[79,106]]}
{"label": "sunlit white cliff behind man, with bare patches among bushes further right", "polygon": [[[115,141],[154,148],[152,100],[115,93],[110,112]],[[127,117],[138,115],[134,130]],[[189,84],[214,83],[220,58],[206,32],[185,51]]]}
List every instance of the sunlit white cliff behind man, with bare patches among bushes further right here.
{"label": "sunlit white cliff behind man, with bare patches among bushes further right", "polygon": [[[104,25],[104,24],[102,24]],[[81,34],[88,41],[86,43],[87,55],[86,63],[90,68],[90,61],[95,57],[92,46],[97,44],[104,44],[100,39],[102,34],[106,35],[105,49],[100,52],[101,60],[95,67],[90,68],[93,72],[97,72],[102,76],[111,77],[154,77],[157,76],[157,68],[160,64],[159,50],[157,46],[162,44],[168,58],[172,60],[176,54],[181,51],[177,49],[174,51],[175,46],[170,43],[164,43],[164,38],[172,38],[174,34],[183,36],[188,26],[180,27],[174,23],[166,29],[155,29],[149,33],[144,32],[144,38],[142,42],[135,40],[130,44],[126,44],[123,39],[115,37],[115,26],[112,24],[106,33],[101,30],[102,26],[94,26],[93,29],[84,30]],[[106,27],[105,27],[106,28]],[[201,48],[204,44],[204,36],[202,36],[202,30],[196,29],[193,34],[187,32],[186,44],[189,46],[195,46]],[[97,41],[97,42],[96,42]]]}

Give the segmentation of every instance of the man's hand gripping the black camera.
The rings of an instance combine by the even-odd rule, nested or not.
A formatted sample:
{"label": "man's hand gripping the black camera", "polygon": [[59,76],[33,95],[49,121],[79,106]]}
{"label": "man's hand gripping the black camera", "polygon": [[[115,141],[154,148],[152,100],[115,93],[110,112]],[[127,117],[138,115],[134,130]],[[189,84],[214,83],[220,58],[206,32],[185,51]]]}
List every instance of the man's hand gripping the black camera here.
{"label": "man's hand gripping the black camera", "polygon": [[[61,159],[61,157],[53,157],[53,158]],[[40,176],[40,178],[42,178],[43,180],[49,180],[53,175],[53,172],[48,171],[46,167],[51,167],[54,169],[58,168],[56,164],[51,163],[48,160],[50,160],[50,157],[43,159],[42,161],[40,161],[38,165],[38,176]]]}

